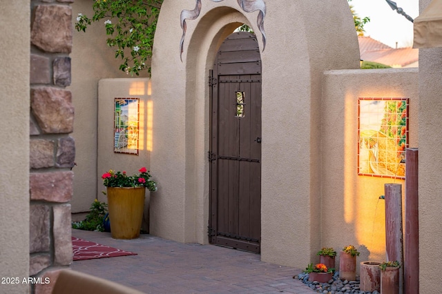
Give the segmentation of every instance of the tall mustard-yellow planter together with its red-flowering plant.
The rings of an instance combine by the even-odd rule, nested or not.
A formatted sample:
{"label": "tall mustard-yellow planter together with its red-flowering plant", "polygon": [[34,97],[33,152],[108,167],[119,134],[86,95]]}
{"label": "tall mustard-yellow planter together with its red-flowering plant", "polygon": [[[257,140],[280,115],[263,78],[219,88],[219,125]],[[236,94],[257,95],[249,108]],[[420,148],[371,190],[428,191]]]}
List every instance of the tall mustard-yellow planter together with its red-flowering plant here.
{"label": "tall mustard-yellow planter together with its red-flowering plant", "polygon": [[140,237],[146,188],[152,192],[157,190],[157,183],[151,180],[146,168],[138,171],[140,173],[131,176],[125,171],[114,170],[102,175],[103,184],[107,187],[111,236],[114,239]]}

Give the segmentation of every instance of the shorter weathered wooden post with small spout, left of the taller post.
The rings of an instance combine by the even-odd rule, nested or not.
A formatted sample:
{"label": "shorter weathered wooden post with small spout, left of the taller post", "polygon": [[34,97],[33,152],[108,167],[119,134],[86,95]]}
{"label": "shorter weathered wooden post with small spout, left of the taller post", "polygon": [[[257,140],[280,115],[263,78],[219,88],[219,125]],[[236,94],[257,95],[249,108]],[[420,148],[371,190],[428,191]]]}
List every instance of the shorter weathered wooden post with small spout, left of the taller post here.
{"label": "shorter weathered wooden post with small spout, left of the taller post", "polygon": [[[403,264],[402,185],[385,184],[385,244],[387,261]],[[403,266],[399,268],[399,293],[403,293]]]}

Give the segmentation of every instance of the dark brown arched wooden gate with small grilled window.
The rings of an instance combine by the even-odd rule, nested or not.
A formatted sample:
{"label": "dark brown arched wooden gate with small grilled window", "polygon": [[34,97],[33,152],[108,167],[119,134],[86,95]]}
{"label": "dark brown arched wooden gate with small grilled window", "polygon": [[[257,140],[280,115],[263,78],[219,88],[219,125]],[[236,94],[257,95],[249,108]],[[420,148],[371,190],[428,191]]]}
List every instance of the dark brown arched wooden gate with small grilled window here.
{"label": "dark brown arched wooden gate with small grilled window", "polygon": [[256,36],[235,32],[211,71],[209,241],[260,252],[261,61]]}

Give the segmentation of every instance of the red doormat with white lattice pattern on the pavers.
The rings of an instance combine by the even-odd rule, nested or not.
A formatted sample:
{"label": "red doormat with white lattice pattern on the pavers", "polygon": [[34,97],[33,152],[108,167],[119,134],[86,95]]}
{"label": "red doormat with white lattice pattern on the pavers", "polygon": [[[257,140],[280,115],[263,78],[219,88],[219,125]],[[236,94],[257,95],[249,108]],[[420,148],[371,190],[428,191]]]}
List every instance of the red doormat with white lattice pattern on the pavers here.
{"label": "red doormat with white lattice pattern on the pavers", "polygon": [[117,257],[126,255],[137,255],[137,253],[124,251],[121,249],[113,248],[111,246],[106,246],[98,244],[95,242],[86,241],[77,237],[72,237],[72,247],[73,247],[73,260],[85,260],[94,258],[106,258],[106,257]]}

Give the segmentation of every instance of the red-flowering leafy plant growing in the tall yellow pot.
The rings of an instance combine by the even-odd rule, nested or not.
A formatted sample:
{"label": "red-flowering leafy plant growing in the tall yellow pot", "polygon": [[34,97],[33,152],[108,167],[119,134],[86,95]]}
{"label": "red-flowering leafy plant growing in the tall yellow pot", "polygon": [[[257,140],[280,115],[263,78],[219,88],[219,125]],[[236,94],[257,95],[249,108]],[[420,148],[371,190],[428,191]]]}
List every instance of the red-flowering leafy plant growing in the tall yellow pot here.
{"label": "red-flowering leafy plant growing in the tall yellow pot", "polygon": [[114,170],[109,170],[102,175],[103,184],[106,187],[146,187],[149,191],[155,192],[157,190],[157,182],[151,180],[151,175],[146,168],[140,168],[140,173],[135,175],[126,175],[126,172],[115,173]]}

